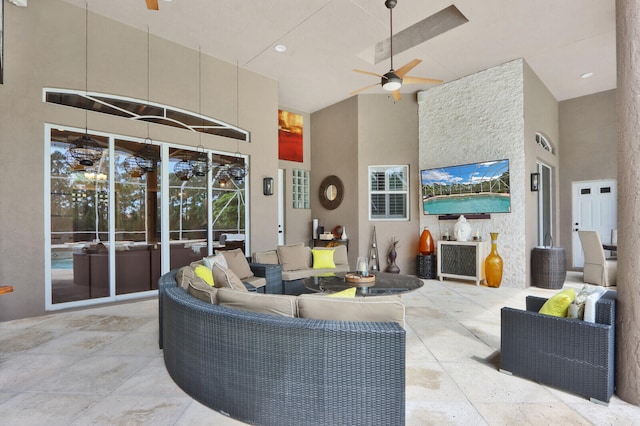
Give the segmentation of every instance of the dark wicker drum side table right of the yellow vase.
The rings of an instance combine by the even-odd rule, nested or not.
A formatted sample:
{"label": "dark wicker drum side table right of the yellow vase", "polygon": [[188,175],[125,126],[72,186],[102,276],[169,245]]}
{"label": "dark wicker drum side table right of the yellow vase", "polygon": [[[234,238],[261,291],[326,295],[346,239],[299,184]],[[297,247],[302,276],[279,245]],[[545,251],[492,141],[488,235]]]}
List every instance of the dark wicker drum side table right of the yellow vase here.
{"label": "dark wicker drum side table right of the yellow vase", "polygon": [[560,289],[567,276],[564,248],[534,247],[531,252],[531,284]]}

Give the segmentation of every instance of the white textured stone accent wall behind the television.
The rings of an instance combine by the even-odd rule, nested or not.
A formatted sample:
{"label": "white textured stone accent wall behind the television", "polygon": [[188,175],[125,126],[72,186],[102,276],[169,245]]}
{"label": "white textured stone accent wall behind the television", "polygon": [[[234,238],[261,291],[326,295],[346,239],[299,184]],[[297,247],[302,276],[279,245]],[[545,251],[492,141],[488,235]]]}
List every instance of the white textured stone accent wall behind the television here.
{"label": "white textured stone accent wall behind the television", "polygon": [[[504,262],[502,284],[526,287],[524,149],[524,62],[521,59],[433,87],[418,94],[419,166],[428,169],[507,158],[511,174],[511,213],[471,220],[473,230],[490,241],[498,232]],[[526,177],[526,179],[525,179]],[[422,214],[422,206],[420,206]],[[455,221],[423,215],[436,239]]]}

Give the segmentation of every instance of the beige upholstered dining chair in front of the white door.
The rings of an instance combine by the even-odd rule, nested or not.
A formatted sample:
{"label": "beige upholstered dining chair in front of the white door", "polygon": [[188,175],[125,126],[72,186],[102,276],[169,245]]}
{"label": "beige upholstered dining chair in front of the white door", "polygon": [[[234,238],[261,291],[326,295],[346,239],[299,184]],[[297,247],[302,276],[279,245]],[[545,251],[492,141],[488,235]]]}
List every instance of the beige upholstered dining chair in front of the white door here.
{"label": "beige upholstered dining chair in front of the white door", "polygon": [[600,235],[597,231],[578,231],[584,252],[584,278],[589,284],[616,285],[618,263],[604,255]]}

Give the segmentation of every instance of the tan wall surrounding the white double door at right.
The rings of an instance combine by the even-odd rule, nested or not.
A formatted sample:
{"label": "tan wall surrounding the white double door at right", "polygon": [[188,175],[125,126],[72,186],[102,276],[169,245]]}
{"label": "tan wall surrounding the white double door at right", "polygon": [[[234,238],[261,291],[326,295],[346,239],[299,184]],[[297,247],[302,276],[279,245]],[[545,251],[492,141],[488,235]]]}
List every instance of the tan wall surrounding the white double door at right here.
{"label": "tan wall surrounding the white double door at right", "polygon": [[573,266],[572,183],[616,179],[616,91],[562,101],[560,117],[560,241]]}

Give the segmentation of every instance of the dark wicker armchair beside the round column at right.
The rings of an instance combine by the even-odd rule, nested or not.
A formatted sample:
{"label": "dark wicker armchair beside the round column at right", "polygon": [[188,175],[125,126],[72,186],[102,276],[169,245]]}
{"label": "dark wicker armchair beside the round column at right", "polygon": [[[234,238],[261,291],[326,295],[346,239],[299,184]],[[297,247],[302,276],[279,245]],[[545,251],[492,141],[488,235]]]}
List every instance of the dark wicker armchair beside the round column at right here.
{"label": "dark wicker armchair beside the round column at right", "polygon": [[596,304],[596,322],[542,315],[547,299],[528,296],[527,310],[504,307],[500,370],[607,404],[614,391],[616,292]]}

